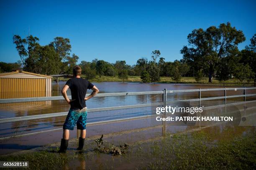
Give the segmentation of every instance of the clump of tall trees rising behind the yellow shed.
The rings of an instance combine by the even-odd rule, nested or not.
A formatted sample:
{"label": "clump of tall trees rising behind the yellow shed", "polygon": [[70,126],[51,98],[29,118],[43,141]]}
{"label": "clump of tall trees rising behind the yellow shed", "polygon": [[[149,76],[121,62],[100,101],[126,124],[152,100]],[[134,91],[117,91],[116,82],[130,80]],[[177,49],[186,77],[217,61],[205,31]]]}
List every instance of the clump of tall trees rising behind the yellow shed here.
{"label": "clump of tall trees rising behind the yellow shed", "polygon": [[[39,74],[59,74],[68,70],[70,61],[69,51],[71,45],[69,39],[56,37],[49,45],[41,46],[39,39],[32,35],[22,39],[19,35],[13,36],[13,43],[16,45],[24,70]],[[72,57],[69,57],[71,60]],[[63,70],[66,68],[67,70]],[[69,70],[70,72],[70,70]]]}

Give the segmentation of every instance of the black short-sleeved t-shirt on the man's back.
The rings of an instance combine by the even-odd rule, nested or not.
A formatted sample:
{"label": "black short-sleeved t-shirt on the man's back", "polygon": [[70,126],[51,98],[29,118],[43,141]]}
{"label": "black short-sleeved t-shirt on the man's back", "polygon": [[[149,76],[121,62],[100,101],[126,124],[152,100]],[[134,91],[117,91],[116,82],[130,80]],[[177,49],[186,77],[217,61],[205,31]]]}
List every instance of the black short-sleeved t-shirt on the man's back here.
{"label": "black short-sleeved t-shirt on the man's back", "polygon": [[71,90],[72,102],[70,109],[82,109],[86,107],[84,97],[87,89],[91,89],[94,85],[86,79],[74,77],[66,82]]}

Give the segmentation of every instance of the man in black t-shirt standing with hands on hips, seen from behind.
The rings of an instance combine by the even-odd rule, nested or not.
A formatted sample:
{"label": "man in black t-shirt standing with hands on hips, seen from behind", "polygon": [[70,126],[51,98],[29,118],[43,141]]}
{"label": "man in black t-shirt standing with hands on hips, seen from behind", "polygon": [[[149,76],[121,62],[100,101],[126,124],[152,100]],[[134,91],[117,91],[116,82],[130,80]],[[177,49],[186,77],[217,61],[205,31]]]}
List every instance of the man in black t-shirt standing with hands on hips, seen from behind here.
{"label": "man in black t-shirt standing with hands on hips, seen from behind", "polygon": [[[69,79],[61,91],[63,97],[67,103],[69,103],[70,109],[63,125],[63,138],[61,139],[59,153],[66,153],[69,143],[69,130],[74,130],[76,124],[77,129],[81,130],[81,137],[79,138],[79,146],[77,150],[82,150],[86,135],[87,107],[85,101],[89,100],[99,92],[95,85],[80,77],[81,72],[81,67],[75,66],[73,68],[74,78]],[[72,100],[69,100],[67,97],[67,90],[69,88],[71,90]],[[87,89],[92,89],[93,92],[88,97],[85,97]]]}

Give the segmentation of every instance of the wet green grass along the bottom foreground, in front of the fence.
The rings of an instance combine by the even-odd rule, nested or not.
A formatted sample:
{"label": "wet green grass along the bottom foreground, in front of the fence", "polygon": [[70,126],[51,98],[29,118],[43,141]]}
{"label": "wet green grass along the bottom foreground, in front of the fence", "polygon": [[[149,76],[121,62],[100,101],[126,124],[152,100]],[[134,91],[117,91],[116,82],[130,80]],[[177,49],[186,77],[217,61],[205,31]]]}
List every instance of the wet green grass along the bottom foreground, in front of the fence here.
{"label": "wet green grass along the bottom foreground, in front of the fence", "polygon": [[[129,146],[126,155],[95,153],[69,154],[44,150],[0,156],[0,161],[29,161],[29,169],[60,169],[86,161],[86,169],[255,169],[256,133],[227,140],[214,140],[204,131],[166,135],[154,142]],[[107,157],[106,157],[107,156]]]}

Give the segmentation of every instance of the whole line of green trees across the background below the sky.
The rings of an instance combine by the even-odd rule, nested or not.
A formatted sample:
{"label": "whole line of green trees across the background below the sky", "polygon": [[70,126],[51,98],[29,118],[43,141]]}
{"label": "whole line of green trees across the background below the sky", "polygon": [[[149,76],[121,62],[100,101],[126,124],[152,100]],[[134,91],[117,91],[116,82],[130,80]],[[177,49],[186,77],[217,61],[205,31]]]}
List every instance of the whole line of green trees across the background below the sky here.
{"label": "whole line of green trees across the background below the sky", "polygon": [[140,76],[142,82],[157,82],[162,76],[172,77],[175,82],[179,82],[181,77],[195,77],[200,82],[202,77],[207,76],[209,82],[212,82],[212,77],[216,77],[225,83],[229,78],[236,77],[243,83],[254,80],[256,85],[256,34],[251,38],[251,44],[243,50],[238,50],[238,44],[246,40],[243,31],[232,27],[230,23],[211,26],[205,30],[192,30],[187,40],[188,45],[180,50],[183,55],[181,60],[166,61],[159,50],[154,50],[150,60],[141,57],[131,66],[125,60],[109,63],[97,58],[91,62],[77,63],[79,57],[70,54],[71,44],[68,38],[55,37],[48,45],[42,46],[38,37],[29,35],[21,38],[14,35],[13,43],[20,61],[0,62],[0,71],[9,71],[14,65],[23,65],[23,70],[28,72],[45,75],[72,74],[72,68],[80,65],[82,74],[87,79],[105,75],[125,80],[130,75]]}

